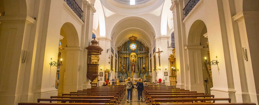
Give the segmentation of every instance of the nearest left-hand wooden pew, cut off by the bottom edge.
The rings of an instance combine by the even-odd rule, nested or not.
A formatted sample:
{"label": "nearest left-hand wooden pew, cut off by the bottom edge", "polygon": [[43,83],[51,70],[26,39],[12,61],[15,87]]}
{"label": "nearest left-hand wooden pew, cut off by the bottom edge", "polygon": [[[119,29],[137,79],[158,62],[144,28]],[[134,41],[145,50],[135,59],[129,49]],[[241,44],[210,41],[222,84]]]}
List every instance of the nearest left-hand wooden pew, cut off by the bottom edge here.
{"label": "nearest left-hand wooden pew, cut off by the bottom edge", "polygon": [[30,103],[21,102],[18,105],[108,105],[109,103]]}

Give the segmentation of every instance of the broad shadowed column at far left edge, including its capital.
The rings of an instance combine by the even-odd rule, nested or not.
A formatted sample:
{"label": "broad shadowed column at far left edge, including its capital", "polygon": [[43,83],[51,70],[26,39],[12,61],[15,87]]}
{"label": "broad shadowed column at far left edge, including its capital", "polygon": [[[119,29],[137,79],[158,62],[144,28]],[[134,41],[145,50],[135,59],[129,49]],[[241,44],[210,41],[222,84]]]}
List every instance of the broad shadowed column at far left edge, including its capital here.
{"label": "broad shadowed column at far left edge, including its capital", "polygon": [[[28,88],[31,85],[28,81],[31,79],[34,46],[29,44],[34,42],[35,35],[31,34],[31,27],[35,20],[29,16],[0,16],[0,22],[0,104],[30,101],[28,97],[31,97],[31,90]],[[22,63],[25,50],[28,55]]]}

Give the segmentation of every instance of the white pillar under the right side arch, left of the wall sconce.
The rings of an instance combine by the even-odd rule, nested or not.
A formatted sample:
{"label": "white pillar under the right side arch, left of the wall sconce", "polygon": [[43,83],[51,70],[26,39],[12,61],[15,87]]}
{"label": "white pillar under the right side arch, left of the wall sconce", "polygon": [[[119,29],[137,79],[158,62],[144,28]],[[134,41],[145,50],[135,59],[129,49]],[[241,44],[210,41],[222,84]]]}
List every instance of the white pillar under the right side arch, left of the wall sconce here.
{"label": "white pillar under the right side arch, left of the wall sconce", "polygon": [[188,51],[189,70],[186,71],[186,89],[204,93],[201,49],[203,46],[185,46]]}

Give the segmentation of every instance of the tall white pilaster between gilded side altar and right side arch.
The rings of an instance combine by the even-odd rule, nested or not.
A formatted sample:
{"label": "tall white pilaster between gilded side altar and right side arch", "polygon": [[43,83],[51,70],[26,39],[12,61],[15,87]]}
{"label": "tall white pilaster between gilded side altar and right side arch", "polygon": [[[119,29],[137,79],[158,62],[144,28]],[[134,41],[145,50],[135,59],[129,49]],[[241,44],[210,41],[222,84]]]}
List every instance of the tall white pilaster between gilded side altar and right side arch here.
{"label": "tall white pilaster between gilded side altar and right side arch", "polygon": [[177,73],[177,88],[184,88],[185,86],[185,70],[188,69],[188,65],[184,62],[184,35],[183,35],[183,1],[173,1],[170,10],[172,11],[174,20],[174,33],[175,33],[175,56],[176,56],[176,67],[179,69]]}

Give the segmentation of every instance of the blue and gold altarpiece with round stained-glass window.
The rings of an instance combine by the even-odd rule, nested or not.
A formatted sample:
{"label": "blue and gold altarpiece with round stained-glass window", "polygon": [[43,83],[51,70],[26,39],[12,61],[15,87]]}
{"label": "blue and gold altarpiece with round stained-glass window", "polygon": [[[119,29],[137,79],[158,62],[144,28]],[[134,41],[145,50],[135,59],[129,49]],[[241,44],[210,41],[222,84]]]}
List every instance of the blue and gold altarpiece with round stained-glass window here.
{"label": "blue and gold altarpiece with round stained-glass window", "polygon": [[118,47],[118,78],[141,78],[149,81],[149,48],[135,36]]}

